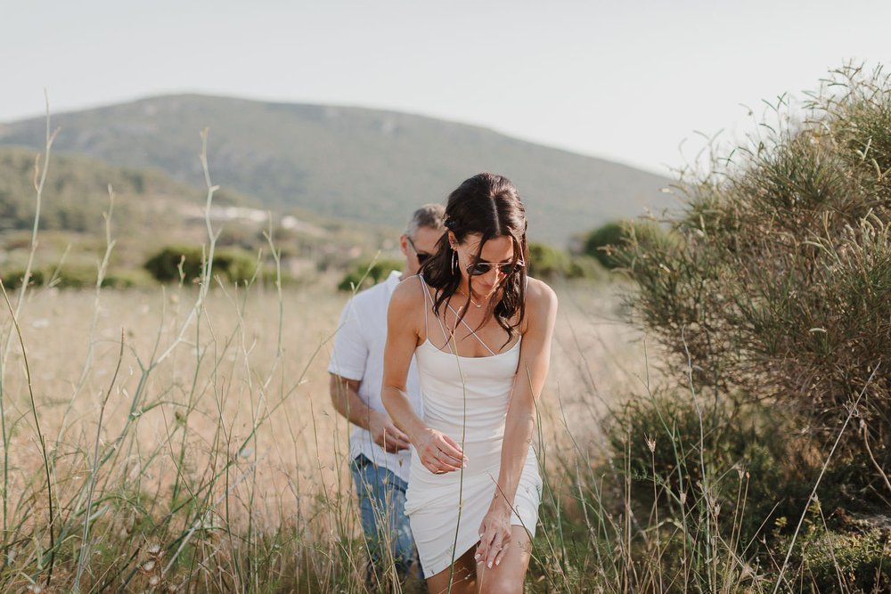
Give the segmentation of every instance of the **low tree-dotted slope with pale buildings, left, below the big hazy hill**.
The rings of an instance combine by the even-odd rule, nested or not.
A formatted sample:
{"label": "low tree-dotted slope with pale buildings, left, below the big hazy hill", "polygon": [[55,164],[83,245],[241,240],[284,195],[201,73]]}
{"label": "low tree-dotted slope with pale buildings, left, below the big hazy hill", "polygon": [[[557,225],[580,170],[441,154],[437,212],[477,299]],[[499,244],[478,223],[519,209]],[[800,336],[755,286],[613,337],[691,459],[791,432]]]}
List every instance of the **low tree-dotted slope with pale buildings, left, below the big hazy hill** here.
{"label": "low tree-dotted slope with pale buildings, left, below the big hazy hill", "polygon": [[[0,146],[0,275],[19,273],[28,257],[36,209],[34,165],[37,151]],[[37,267],[58,265],[81,276],[94,274],[105,249],[103,214],[115,194],[111,236],[116,242],[111,268],[131,274],[146,258],[168,245],[207,242],[207,191],[172,179],[158,169],[136,169],[53,151],[40,212]],[[255,199],[222,189],[214,195],[211,219],[220,232],[217,245],[249,254],[268,254],[268,213]],[[397,232],[380,225],[350,223],[289,209],[272,213],[273,237],[282,249],[287,273],[344,266],[358,255],[393,248]]]}

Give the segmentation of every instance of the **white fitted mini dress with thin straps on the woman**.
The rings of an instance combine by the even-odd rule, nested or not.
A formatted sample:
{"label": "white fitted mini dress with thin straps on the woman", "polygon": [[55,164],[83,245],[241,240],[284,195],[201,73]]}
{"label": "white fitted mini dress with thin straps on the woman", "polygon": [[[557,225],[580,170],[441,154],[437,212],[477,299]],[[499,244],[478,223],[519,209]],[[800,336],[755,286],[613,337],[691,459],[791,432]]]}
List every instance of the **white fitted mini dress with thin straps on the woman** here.
{"label": "white fitted mini dress with thin straps on the woman", "polygon": [[[431,310],[432,298],[422,278],[421,283]],[[424,422],[452,437],[467,457],[466,468],[442,475],[430,472],[417,455],[412,458],[405,513],[428,577],[478,543],[479,525],[497,490],[520,343],[500,354],[486,348],[492,354],[462,357],[438,349],[428,338],[415,350]],[[530,538],[535,536],[541,493],[542,479],[530,444],[511,515],[511,525],[523,526]]]}

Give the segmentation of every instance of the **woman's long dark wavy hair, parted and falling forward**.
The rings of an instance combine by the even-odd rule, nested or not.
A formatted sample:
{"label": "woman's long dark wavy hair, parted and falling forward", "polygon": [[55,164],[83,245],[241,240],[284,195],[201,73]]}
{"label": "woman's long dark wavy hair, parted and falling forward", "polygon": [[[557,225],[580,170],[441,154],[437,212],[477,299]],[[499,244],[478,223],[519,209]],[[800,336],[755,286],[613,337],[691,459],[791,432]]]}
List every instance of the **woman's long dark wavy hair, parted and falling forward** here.
{"label": "woman's long dark wavy hair, parted and falling forward", "polygon": [[[487,240],[495,237],[510,237],[513,241],[513,260],[509,273],[501,282],[501,298],[494,305],[490,303],[486,312],[495,315],[495,320],[508,333],[505,345],[516,335],[516,329],[526,314],[526,267],[517,265],[527,261],[526,207],[519,199],[517,188],[503,175],[482,173],[474,175],[449,194],[446,204],[446,229],[454,233],[455,240],[463,243],[465,238],[477,233],[481,235],[479,248],[473,264],[479,262],[479,255]],[[457,270],[457,252],[452,249],[448,233],[437,243],[437,253],[421,267],[427,283],[436,289],[433,311],[439,315],[444,303],[452,297],[461,281]],[[469,279],[472,290],[473,277]],[[470,291],[462,308],[466,312],[470,305]],[[519,313],[519,315],[518,315]],[[463,313],[459,316],[459,320]]]}

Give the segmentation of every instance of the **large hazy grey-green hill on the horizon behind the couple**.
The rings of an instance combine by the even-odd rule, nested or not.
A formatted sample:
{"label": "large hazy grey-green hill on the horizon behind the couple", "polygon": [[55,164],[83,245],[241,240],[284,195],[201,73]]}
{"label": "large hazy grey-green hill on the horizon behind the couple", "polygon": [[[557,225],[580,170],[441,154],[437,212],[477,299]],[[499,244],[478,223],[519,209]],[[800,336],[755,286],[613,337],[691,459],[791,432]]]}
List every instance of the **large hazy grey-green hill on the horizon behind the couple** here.
{"label": "large hazy grey-green hill on the horizon behind the couple", "polygon": [[[0,125],[0,144],[39,149],[44,126],[43,118]],[[265,207],[374,224],[401,225],[413,207],[445,199],[483,170],[517,183],[534,240],[565,244],[607,220],[668,206],[664,177],[391,111],[173,95],[59,114],[55,126],[57,151],[158,168],[199,187],[198,134],[209,127],[215,183]]]}

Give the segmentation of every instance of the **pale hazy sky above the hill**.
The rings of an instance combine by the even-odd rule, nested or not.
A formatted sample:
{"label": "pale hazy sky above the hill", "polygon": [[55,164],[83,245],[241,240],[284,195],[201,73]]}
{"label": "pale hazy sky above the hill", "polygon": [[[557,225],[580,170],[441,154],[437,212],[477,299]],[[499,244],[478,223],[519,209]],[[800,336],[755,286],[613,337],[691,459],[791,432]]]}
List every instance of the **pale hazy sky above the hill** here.
{"label": "pale hazy sky above the hill", "polygon": [[751,129],[742,105],[891,61],[889,23],[888,0],[0,0],[0,122],[41,113],[44,89],[56,112],[229,94],[419,113],[667,174],[694,132]]}

